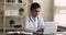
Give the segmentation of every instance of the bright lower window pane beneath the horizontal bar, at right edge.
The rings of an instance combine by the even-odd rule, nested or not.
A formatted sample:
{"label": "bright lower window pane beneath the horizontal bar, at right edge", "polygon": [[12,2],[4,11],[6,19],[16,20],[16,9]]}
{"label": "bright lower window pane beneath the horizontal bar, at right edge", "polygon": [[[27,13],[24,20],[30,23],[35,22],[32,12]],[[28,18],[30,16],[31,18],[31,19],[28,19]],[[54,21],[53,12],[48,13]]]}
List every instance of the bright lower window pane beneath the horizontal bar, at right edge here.
{"label": "bright lower window pane beneath the horizontal bar, at right edge", "polygon": [[66,26],[66,10],[59,10],[59,25]]}

